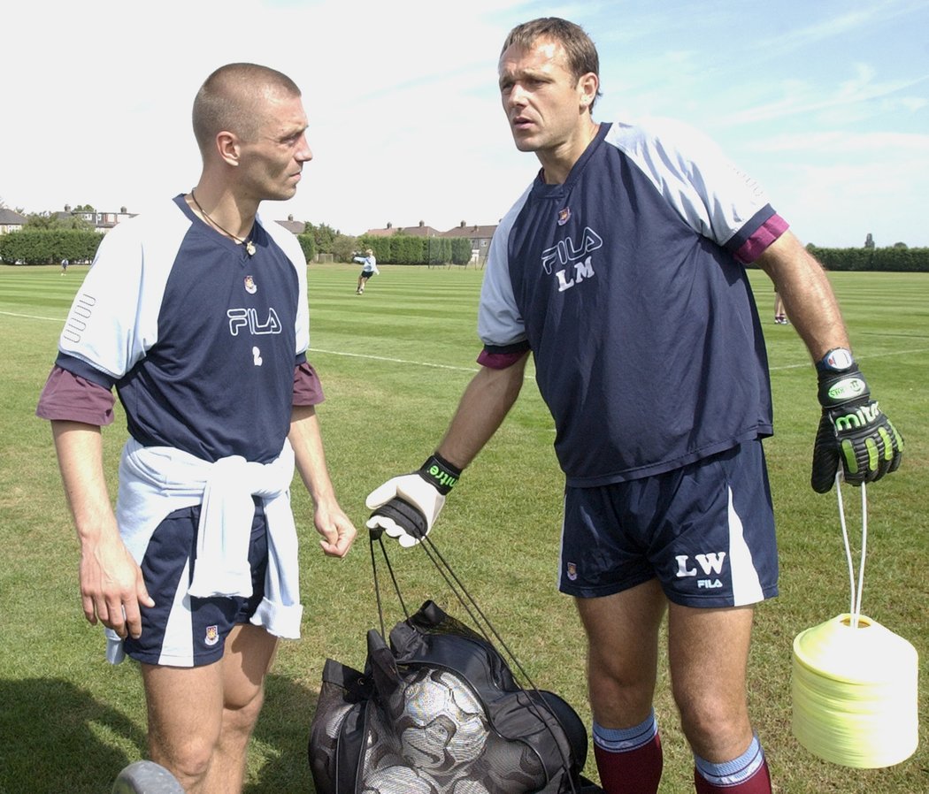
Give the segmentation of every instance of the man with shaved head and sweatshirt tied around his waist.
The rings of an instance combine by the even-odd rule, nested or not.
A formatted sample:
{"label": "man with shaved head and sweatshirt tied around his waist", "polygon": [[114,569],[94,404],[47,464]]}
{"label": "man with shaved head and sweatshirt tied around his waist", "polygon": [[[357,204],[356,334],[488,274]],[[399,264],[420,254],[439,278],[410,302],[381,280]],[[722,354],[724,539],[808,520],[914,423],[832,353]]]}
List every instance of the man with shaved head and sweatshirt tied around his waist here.
{"label": "man with shaved head and sweatshirt tied around his waist", "polygon": [[[300,631],[294,468],[322,552],[343,557],[356,530],[323,454],[307,263],[258,215],[312,159],[300,91],[229,64],[193,127],[200,179],[100,244],[36,412],[81,543],[85,617],[112,662],[142,671],[151,760],[189,794],[234,794],[278,638]],[[129,431],[115,510],[100,433],[113,389]]]}

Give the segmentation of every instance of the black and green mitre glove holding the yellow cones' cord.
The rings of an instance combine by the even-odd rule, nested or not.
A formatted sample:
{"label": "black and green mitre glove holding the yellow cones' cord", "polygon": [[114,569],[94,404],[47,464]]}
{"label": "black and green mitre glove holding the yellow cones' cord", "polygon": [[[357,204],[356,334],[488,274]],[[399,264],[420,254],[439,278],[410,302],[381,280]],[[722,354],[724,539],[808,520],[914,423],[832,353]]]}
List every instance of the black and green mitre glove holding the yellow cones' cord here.
{"label": "black and green mitre glove holding the yellow cones' cord", "polygon": [[852,354],[843,347],[830,350],[817,372],[822,418],[813,446],[813,490],[832,488],[840,460],[845,482],[855,486],[896,471],[903,437],[870,398]]}

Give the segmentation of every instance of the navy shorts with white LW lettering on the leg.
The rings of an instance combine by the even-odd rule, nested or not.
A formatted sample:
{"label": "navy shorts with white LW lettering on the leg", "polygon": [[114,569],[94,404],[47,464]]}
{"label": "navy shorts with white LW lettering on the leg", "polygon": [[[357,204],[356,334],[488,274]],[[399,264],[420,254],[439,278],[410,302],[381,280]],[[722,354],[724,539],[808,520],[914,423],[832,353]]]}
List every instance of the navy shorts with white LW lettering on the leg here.
{"label": "navy shorts with white LW lettering on the leg", "polygon": [[687,606],[778,594],[774,510],[761,441],[665,474],[566,488],[558,587],[580,598],[659,579]]}

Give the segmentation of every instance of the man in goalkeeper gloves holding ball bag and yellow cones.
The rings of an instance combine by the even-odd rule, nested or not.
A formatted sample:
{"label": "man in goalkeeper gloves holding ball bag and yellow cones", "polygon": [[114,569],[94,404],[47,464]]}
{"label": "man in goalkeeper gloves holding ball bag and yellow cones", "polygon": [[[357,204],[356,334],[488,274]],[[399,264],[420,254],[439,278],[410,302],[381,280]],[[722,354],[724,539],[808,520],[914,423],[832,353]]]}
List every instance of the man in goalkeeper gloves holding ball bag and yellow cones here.
{"label": "man in goalkeeper gloves holding ball bag and yellow cones", "polygon": [[566,20],[517,26],[499,78],[517,149],[542,168],[493,236],[480,369],[434,454],[369,495],[367,526],[403,546],[434,526],[531,355],[566,476],[559,586],[586,631],[603,786],[658,790],[667,614],[696,791],[769,794],[746,704],[753,605],[778,592],[771,394],[747,264],[778,285],[818,373],[813,488],[831,488],[840,466],[855,485],[894,471],[902,439],[822,268],[710,141],[670,121],[596,122],[596,49]]}

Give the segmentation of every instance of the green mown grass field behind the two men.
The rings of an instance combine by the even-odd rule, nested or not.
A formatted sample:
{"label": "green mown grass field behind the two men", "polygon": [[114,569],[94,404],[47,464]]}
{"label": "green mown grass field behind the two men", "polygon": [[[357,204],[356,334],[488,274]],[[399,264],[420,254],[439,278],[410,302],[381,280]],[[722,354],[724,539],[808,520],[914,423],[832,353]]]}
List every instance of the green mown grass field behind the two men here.
{"label": "green mown grass field behind the two men", "polygon": [[[145,751],[145,713],[134,664],[111,667],[102,634],[81,613],[77,542],[47,423],[34,417],[62,321],[84,267],[0,267],[0,794],[101,794]],[[308,269],[310,358],[327,400],[321,423],[343,506],[363,526],[363,501],[386,477],[417,467],[445,429],[476,370],[480,271],[383,267],[363,296],[354,266]],[[834,494],[809,488],[818,423],[816,381],[790,327],[773,323],[770,283],[752,280],[765,319],[776,403],[766,443],[779,521],[781,593],[757,611],[751,708],[776,791],[929,791],[929,521],[926,518],[929,274],[832,274],[862,370],[907,440],[901,470],[869,489],[863,612],[921,655],[921,745],[883,770],[820,761],[792,737],[792,639],[848,608],[848,577]],[[104,433],[111,475],[124,442],[122,415]],[[531,380],[516,408],[455,489],[433,536],[539,686],[589,722],[582,633],[556,593],[562,477],[551,419]],[[113,491],[114,492],[114,491]],[[853,538],[857,491],[845,489]],[[309,503],[294,489],[298,525]],[[307,534],[301,551],[304,636],[281,644],[267,705],[250,750],[249,794],[311,792],[307,729],[326,657],[361,667],[377,625],[370,555],[362,538],[343,561],[324,558]],[[857,546],[857,543],[856,543]],[[392,555],[407,603],[456,605],[418,550]],[[401,617],[386,598],[387,618]],[[460,613],[459,613],[460,614]],[[712,637],[707,642],[713,642]],[[662,794],[692,791],[691,758],[668,682],[657,701],[665,749]],[[586,767],[595,776],[593,752]]]}

